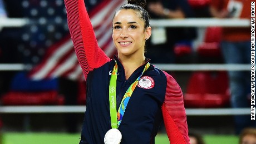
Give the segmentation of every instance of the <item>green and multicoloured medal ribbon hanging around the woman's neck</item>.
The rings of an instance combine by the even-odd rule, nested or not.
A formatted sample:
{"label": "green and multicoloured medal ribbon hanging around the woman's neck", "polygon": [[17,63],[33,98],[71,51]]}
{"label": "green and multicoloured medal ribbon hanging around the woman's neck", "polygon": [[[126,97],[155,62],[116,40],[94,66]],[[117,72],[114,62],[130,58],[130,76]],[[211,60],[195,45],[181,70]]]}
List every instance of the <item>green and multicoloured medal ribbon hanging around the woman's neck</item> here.
{"label": "green and multicoloured medal ribbon hanging around the woman's neck", "polygon": [[120,125],[120,123],[122,121],[122,117],[124,117],[125,109],[130,100],[130,97],[131,97],[132,93],[134,92],[136,86],[138,85],[140,77],[149,68],[149,66],[150,66],[150,63],[148,62],[146,64],[146,66],[144,67],[143,71],[141,72],[141,75],[127,89],[124,97],[122,98],[121,105],[120,105],[118,111],[116,111],[117,63],[115,63],[115,66],[112,70],[112,75],[110,77],[110,85],[109,85],[110,118],[111,118],[111,127],[112,128],[117,128]]}

